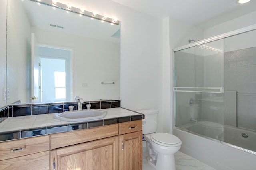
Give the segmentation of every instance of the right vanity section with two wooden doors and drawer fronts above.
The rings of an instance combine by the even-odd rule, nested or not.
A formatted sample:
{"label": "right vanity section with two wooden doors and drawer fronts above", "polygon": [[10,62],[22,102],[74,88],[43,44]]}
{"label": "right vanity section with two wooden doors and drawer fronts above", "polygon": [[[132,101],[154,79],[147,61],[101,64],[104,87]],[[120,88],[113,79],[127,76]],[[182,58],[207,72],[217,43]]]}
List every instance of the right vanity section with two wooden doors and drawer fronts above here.
{"label": "right vanity section with two wooden doors and drawer fronts above", "polygon": [[51,170],[142,170],[142,120],[51,134],[50,139]]}

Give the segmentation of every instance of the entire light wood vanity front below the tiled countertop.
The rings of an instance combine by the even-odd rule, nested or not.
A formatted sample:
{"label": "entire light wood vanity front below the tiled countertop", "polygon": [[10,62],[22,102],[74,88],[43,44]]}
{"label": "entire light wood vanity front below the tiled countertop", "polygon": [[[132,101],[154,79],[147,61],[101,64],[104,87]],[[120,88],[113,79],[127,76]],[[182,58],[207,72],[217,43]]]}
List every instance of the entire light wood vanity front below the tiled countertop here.
{"label": "entire light wood vanity front below the tiled countertop", "polygon": [[142,170],[142,120],[0,142],[2,169]]}

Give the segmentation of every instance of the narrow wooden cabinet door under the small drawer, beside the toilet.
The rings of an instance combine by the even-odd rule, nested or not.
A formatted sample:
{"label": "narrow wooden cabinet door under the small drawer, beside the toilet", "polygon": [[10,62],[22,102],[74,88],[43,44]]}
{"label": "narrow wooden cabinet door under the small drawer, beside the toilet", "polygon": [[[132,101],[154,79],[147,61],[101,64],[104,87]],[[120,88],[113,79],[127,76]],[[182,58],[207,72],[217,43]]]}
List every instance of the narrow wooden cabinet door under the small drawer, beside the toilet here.
{"label": "narrow wooden cabinet door under the small drawer, beside the toilet", "polygon": [[119,136],[119,169],[142,170],[142,131]]}

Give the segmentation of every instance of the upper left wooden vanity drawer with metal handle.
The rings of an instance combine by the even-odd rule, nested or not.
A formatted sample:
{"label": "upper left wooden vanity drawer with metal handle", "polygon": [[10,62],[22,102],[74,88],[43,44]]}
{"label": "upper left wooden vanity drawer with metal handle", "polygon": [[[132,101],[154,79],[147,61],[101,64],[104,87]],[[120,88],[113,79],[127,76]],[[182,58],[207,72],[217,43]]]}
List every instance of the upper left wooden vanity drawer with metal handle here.
{"label": "upper left wooden vanity drawer with metal handle", "polygon": [[0,142],[0,160],[49,150],[49,135]]}

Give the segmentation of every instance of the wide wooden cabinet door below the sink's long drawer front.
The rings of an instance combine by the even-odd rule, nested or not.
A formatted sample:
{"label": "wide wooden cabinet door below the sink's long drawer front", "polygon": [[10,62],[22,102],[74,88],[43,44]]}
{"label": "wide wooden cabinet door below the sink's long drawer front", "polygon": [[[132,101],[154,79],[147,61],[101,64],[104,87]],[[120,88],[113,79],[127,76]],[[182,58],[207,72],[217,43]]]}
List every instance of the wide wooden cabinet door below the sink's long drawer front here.
{"label": "wide wooden cabinet door below the sink's long drawer front", "polygon": [[118,170],[118,136],[54,149],[50,169]]}

